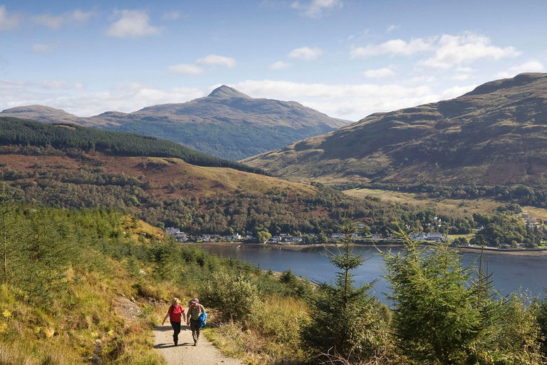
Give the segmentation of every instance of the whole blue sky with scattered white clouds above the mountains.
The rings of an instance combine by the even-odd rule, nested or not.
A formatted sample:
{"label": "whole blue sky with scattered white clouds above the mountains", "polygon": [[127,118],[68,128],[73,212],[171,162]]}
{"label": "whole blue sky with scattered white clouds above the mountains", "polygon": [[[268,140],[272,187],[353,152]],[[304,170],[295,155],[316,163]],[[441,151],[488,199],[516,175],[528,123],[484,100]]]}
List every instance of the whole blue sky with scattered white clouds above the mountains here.
{"label": "whole blue sky with scattered white clouds above the mountains", "polygon": [[4,1],[0,109],[80,116],[226,84],[337,118],[547,65],[547,1]]}

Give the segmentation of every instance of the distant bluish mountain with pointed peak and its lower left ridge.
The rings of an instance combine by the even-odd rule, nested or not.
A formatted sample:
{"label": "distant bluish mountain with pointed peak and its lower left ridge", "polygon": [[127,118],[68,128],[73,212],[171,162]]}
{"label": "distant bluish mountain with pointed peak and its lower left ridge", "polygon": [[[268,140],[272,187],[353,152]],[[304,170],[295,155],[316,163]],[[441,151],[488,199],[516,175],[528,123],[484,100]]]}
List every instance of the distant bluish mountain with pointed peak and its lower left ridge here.
{"label": "distant bluish mountain with pointed peak and its lower left ridge", "polygon": [[20,106],[0,116],[151,135],[230,160],[282,148],[350,123],[293,101],[251,98],[229,86],[187,103],[150,106],[134,113],[109,111],[80,118],[48,106]]}

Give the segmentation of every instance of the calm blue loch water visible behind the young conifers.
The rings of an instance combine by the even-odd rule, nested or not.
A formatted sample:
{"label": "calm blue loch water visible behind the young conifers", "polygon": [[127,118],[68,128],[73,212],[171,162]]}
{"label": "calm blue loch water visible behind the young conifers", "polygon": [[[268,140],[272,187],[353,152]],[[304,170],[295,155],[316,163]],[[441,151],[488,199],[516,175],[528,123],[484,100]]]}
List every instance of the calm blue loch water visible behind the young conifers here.
{"label": "calm blue loch water visible behind the young conifers", "polygon": [[[262,269],[271,269],[283,272],[291,269],[294,274],[307,277],[319,282],[333,280],[336,269],[325,257],[323,247],[312,247],[304,251],[281,250],[278,247],[257,247],[240,245],[200,245],[208,252],[224,257],[237,257],[252,262]],[[335,248],[333,250],[336,250]],[[382,249],[385,250],[385,249]],[[398,252],[392,248],[392,252]],[[385,301],[385,293],[389,292],[387,282],[382,278],[382,258],[377,255],[375,248],[355,247],[354,253],[362,253],[370,257],[361,267],[355,269],[355,282],[372,282],[378,279],[373,291]],[[476,253],[462,254],[464,265],[472,264],[478,257]],[[547,287],[547,257],[545,256],[516,256],[516,255],[484,255],[484,268],[494,273],[495,289],[501,295],[521,289],[532,296],[543,295],[543,287]]]}

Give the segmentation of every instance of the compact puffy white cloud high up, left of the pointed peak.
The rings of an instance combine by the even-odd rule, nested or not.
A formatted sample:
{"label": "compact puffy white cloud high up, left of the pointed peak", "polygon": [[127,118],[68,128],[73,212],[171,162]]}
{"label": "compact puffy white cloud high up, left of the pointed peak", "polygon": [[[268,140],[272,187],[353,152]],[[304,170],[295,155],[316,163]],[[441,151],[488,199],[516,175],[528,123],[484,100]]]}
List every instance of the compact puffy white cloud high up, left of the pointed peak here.
{"label": "compact puffy white cloud high up, left of the pointed peak", "polygon": [[145,11],[123,10],[115,11],[121,18],[113,23],[106,34],[119,38],[155,36],[161,33],[161,28],[152,26]]}

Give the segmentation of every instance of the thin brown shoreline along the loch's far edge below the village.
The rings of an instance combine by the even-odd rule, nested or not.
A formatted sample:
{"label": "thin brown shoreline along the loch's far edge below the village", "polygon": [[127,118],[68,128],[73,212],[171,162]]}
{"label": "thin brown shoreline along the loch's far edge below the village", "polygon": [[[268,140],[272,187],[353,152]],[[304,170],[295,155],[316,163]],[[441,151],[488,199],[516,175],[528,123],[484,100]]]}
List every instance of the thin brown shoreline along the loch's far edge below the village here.
{"label": "thin brown shoreline along the loch's far edge below the village", "polygon": [[[184,242],[184,245],[219,245],[219,246],[241,246],[241,247],[271,247],[278,248],[280,250],[287,251],[307,251],[320,248],[329,248],[329,247],[342,247],[343,243],[324,243],[324,244],[309,244],[309,245],[279,245],[273,243],[241,243],[241,242]],[[353,247],[365,248],[369,247],[371,249],[375,247],[403,247],[402,243],[380,243],[380,244],[353,244]],[[450,247],[454,250],[459,250],[460,252],[473,252],[479,254],[481,252],[481,247]],[[545,256],[547,255],[547,249],[528,249],[528,250],[519,250],[519,249],[500,249],[494,247],[484,247],[484,253],[494,254],[494,255],[514,255],[514,256]]]}

